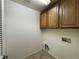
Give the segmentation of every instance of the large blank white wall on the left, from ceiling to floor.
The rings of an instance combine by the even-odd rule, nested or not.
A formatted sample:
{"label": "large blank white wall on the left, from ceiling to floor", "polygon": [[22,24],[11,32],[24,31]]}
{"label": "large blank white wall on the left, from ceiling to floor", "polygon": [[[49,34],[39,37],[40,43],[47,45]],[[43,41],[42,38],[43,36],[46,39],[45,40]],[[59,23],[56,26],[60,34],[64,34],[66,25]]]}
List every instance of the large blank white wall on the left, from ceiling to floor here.
{"label": "large blank white wall on the left, from ceiling to floor", "polygon": [[42,48],[40,12],[5,0],[6,39],[8,59],[21,59]]}

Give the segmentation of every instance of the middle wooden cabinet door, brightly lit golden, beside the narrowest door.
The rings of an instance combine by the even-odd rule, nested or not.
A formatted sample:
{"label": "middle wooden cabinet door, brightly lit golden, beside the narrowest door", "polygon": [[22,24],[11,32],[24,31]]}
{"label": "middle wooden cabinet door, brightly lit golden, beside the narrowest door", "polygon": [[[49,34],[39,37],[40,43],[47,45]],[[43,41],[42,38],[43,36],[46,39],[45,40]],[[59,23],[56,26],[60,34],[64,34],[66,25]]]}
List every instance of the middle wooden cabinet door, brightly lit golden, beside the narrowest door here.
{"label": "middle wooden cabinet door, brightly lit golden, beside the narrowest door", "polygon": [[58,27],[58,5],[48,10],[48,28]]}

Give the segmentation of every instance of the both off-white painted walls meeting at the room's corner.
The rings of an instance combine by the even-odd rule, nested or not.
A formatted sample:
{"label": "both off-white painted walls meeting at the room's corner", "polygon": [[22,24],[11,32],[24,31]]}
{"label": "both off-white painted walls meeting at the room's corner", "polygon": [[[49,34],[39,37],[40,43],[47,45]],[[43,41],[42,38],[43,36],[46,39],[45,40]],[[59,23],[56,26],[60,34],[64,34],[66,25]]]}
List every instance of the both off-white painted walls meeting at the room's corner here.
{"label": "both off-white painted walls meeting at the room's corner", "polygon": [[[20,59],[41,49],[39,15],[38,11],[5,0],[4,53],[8,54],[9,59]],[[72,43],[62,42],[62,37],[71,38]],[[79,59],[79,29],[44,30],[43,43],[49,45],[49,53],[58,59]]]}

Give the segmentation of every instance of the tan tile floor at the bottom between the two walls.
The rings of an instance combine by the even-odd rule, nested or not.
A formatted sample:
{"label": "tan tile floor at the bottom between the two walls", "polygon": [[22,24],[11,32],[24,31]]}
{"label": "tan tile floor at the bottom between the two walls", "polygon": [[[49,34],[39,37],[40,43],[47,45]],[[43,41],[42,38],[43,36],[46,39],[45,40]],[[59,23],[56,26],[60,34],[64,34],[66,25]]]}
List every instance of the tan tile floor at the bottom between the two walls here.
{"label": "tan tile floor at the bottom between the two walls", "polygon": [[55,59],[54,57],[52,57],[51,55],[49,55],[47,52],[45,51],[40,51],[34,55],[31,55],[25,59]]}

